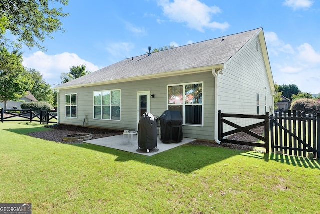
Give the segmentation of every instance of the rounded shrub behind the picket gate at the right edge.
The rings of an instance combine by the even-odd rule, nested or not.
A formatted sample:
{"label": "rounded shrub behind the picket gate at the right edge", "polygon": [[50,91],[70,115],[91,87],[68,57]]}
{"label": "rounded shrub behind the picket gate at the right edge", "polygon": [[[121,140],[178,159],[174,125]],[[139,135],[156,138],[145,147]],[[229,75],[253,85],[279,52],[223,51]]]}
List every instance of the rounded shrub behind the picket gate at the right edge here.
{"label": "rounded shrub behind the picket gate at the right edge", "polygon": [[291,104],[291,110],[304,111],[308,114],[316,114],[320,112],[320,100],[309,98],[296,99]]}

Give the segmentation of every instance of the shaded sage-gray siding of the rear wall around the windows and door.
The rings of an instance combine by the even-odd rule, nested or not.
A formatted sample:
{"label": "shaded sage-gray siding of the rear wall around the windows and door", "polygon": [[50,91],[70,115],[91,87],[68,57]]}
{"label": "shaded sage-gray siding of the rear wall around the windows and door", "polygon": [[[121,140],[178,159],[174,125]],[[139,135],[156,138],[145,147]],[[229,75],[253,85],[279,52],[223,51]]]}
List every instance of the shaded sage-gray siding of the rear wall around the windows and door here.
{"label": "shaded sage-gray siding of the rear wall around the windows and door", "polygon": [[[59,91],[59,122],[88,127],[102,127],[118,130],[136,130],[137,92],[150,91],[150,113],[160,116],[167,110],[167,85],[203,81],[204,126],[183,126],[183,136],[214,139],[214,76],[211,71],[134,82],[123,82],[92,87],[81,87]],[[121,121],[93,119],[93,91],[121,90]],[[65,94],[77,93],[77,118],[66,118]],[[83,123],[83,120],[85,122]]]}

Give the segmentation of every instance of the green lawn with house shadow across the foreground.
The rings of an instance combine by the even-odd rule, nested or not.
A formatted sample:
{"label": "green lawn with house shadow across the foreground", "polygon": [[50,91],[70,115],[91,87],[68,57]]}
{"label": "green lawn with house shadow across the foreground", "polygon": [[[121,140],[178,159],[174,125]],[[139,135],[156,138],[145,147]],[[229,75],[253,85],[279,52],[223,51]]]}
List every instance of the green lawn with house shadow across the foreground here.
{"label": "green lawn with house shadow across the foreground", "polygon": [[143,156],[0,123],[0,203],[32,213],[320,213],[320,161],[184,145]]}

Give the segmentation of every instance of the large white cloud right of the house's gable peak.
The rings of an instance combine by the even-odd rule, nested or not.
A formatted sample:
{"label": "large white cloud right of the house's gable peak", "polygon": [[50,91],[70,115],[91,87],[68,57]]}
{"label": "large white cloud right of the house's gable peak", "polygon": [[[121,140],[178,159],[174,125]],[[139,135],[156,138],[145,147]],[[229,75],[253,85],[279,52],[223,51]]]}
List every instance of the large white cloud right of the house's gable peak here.
{"label": "large white cloud right of the house's gable peak", "polygon": [[308,43],[292,47],[274,32],[266,32],[265,40],[275,82],[295,84],[302,92],[320,93],[320,51]]}

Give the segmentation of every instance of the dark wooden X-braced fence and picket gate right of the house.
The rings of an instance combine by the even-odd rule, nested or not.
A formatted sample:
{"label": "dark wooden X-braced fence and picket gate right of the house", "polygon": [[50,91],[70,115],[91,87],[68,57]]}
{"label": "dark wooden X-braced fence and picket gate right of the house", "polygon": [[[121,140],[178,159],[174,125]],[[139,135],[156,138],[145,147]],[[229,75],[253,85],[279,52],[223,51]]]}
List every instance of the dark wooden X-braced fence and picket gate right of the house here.
{"label": "dark wooden X-braced fence and picket gate right of the house", "polygon": [[[235,121],[235,118],[241,118]],[[244,119],[258,119],[260,122],[245,124]],[[261,122],[261,120],[263,120]],[[254,124],[253,124],[254,123]],[[224,126],[231,130],[224,130]],[[252,129],[264,126],[264,136],[254,133]],[[226,137],[238,133],[246,133],[260,142],[245,142]],[[284,111],[270,115],[225,114],[219,111],[218,139],[221,142],[248,146],[264,147],[269,153],[283,153],[294,156],[309,156],[320,159],[320,113],[306,114],[301,111]]]}

